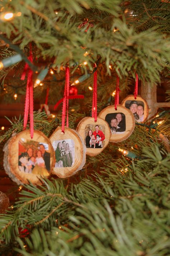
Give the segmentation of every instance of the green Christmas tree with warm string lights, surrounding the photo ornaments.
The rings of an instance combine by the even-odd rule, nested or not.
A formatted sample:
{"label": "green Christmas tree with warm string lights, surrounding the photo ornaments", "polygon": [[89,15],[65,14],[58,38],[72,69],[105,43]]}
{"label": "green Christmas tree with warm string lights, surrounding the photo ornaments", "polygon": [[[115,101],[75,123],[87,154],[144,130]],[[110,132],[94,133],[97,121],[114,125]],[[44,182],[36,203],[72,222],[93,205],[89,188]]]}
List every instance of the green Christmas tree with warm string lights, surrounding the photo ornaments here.
{"label": "green Christmas tree with warm string lights, surrounding the photo ornaments", "polygon": [[[63,98],[70,67],[70,95],[85,96],[69,100],[72,129],[91,115],[96,70],[98,113],[114,104],[117,76],[120,99],[133,94],[136,73],[150,107],[128,139],[86,156],[76,175],[18,187],[15,204],[0,216],[2,254],[12,248],[12,255],[169,255],[170,116],[160,109],[169,102],[156,101],[156,86],[169,80],[169,10],[166,0],[0,3],[2,102],[23,100],[27,79],[20,77],[28,64],[34,100],[46,105],[47,98],[50,105]],[[34,112],[34,130],[49,137],[61,126],[61,109],[55,117]],[[22,130],[20,117],[1,131],[1,162],[6,140]]]}

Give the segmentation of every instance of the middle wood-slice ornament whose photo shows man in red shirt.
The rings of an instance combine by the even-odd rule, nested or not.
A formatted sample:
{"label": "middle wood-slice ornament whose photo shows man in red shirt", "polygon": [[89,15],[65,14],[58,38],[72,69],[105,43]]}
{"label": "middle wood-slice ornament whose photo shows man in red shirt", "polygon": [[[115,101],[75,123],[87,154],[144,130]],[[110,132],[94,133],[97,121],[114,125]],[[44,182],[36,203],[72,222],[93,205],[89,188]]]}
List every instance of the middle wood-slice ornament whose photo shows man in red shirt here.
{"label": "middle wood-slice ornament whose photo shows man in red shirt", "polygon": [[77,125],[77,132],[86,146],[86,154],[96,156],[108,145],[110,129],[108,123],[102,118],[94,121],[93,117],[84,117]]}

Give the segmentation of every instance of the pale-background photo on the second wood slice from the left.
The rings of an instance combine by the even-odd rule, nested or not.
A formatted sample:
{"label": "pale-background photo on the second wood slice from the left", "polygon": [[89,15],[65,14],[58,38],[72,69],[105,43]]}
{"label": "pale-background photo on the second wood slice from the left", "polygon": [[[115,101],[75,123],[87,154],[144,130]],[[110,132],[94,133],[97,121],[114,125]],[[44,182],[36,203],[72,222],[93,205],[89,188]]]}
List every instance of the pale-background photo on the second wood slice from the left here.
{"label": "pale-background photo on the second wood slice from the left", "polygon": [[52,143],[55,150],[56,163],[55,167],[71,167],[75,161],[74,140],[55,140]]}

